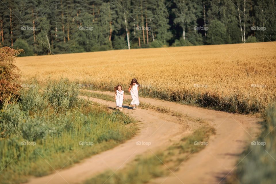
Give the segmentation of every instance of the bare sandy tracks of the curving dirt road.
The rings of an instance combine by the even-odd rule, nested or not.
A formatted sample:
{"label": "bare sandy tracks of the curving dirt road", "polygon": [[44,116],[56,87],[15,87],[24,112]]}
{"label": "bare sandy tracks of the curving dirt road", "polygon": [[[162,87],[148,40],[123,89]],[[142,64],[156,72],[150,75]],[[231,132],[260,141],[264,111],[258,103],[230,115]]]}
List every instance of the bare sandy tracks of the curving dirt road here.
{"label": "bare sandy tracks of the curving dirt road", "polygon": [[[111,94],[112,92],[100,92]],[[130,98],[129,95],[126,95]],[[101,104],[114,107],[115,103],[91,98]],[[185,106],[173,102],[150,98],[140,98],[140,101],[154,105],[162,105],[187,114],[193,118],[207,120],[216,130],[216,135],[210,136],[209,144],[199,153],[192,154],[179,169],[171,172],[168,177],[160,177],[150,183],[220,183],[231,175],[235,169],[239,154],[259,132],[260,119],[221,111],[208,110],[192,106]],[[149,150],[164,149],[172,142],[179,140],[192,128],[183,129],[181,124],[175,123],[176,117],[138,108],[137,110],[124,108],[141,123],[140,132],[133,139],[98,155],[91,156],[79,164],[55,172],[51,175],[31,178],[28,183],[81,183],[85,179],[101,173],[107,169],[116,170],[131,162],[135,156]],[[190,122],[191,123],[191,122]],[[193,127],[190,124],[188,127]],[[150,143],[150,145],[139,145]],[[137,145],[138,144],[138,145]],[[229,174],[230,172],[230,174]]]}

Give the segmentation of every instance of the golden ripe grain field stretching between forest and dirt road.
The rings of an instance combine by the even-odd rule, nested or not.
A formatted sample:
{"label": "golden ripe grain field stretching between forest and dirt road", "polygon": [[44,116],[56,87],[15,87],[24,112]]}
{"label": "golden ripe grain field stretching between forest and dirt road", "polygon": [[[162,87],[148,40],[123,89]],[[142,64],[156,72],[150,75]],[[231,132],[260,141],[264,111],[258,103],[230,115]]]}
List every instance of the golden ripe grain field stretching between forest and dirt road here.
{"label": "golden ripe grain field stretching between forest and dirt road", "polygon": [[229,112],[263,112],[276,99],[276,42],[165,47],[20,57],[22,83],[68,78]]}

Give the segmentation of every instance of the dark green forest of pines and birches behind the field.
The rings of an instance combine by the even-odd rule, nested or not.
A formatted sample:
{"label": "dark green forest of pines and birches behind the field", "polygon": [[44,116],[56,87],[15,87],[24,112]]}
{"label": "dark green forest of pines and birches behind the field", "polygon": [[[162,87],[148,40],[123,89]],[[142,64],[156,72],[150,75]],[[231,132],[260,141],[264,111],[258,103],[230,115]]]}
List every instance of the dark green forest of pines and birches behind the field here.
{"label": "dark green forest of pines and birches behind the field", "polygon": [[275,41],[275,0],[1,0],[0,42],[46,55]]}

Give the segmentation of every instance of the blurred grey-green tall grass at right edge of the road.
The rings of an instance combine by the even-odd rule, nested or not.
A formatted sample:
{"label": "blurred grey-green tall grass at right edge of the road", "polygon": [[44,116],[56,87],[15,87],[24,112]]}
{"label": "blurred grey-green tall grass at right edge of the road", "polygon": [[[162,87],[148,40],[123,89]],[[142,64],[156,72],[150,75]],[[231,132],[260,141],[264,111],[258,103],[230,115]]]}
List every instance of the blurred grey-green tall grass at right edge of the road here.
{"label": "blurred grey-green tall grass at right edge of the road", "polygon": [[276,105],[267,110],[264,131],[238,161],[234,177],[225,183],[276,183]]}

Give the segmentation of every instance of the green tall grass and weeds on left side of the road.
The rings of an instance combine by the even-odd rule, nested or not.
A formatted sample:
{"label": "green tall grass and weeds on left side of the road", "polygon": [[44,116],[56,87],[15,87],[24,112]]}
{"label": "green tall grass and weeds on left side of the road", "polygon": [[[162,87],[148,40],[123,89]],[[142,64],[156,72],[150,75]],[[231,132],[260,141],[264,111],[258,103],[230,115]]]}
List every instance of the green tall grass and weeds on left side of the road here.
{"label": "green tall grass and weeds on left side of the road", "polygon": [[0,183],[47,175],[135,134],[133,119],[78,99],[76,91],[61,79],[45,90],[26,89],[19,103],[1,109]]}

